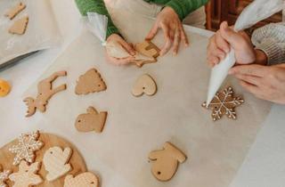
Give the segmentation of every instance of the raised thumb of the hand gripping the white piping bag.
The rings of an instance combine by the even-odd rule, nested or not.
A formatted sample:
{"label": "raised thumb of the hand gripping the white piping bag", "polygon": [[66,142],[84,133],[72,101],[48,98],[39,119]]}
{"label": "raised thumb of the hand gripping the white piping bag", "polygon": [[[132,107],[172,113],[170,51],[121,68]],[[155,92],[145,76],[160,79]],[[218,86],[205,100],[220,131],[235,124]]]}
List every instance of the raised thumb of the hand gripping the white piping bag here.
{"label": "raised thumb of the hand gripping the white piping bag", "polygon": [[224,39],[233,47],[234,45],[239,44],[240,39],[242,40],[240,34],[235,32],[232,28],[229,28],[229,25],[226,21],[221,24],[220,30],[221,36],[224,37]]}

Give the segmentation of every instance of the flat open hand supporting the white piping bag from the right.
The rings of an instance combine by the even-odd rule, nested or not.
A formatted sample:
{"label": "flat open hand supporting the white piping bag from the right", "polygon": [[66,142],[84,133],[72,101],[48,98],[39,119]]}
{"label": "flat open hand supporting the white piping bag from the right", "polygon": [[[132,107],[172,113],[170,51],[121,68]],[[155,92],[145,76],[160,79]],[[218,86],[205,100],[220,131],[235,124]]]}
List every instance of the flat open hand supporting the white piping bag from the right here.
{"label": "flat open hand supporting the white piping bag from the right", "polygon": [[232,68],[229,73],[239,78],[240,85],[257,98],[285,104],[285,64],[240,65]]}

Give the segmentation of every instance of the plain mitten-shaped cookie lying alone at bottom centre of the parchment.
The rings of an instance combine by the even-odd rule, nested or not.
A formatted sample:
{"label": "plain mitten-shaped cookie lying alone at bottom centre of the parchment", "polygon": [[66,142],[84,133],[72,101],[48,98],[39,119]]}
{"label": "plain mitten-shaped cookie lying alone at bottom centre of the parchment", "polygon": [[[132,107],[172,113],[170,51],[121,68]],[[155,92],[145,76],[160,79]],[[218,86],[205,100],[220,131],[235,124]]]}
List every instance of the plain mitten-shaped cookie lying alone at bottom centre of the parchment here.
{"label": "plain mitten-shaped cookie lying alone at bottom centre of the parchment", "polygon": [[149,159],[152,161],[152,174],[159,181],[165,182],[175,175],[179,163],[183,163],[187,158],[181,150],[166,142],[164,149],[152,151]]}

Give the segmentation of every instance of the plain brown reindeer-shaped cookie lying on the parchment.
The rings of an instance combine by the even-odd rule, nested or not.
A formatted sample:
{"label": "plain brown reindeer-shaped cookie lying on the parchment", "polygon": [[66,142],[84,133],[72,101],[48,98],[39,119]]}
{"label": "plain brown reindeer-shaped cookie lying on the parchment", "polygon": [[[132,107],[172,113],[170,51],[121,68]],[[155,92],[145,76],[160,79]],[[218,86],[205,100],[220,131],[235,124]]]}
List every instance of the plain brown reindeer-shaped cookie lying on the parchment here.
{"label": "plain brown reindeer-shaped cookie lying on the parchment", "polygon": [[53,97],[55,93],[59,93],[66,90],[66,85],[60,85],[53,88],[53,81],[58,77],[65,77],[66,71],[58,71],[53,73],[51,77],[47,77],[40,81],[37,85],[37,98],[27,97],[24,102],[28,106],[28,112],[26,117],[30,117],[36,113],[36,110],[45,112],[48,101]]}

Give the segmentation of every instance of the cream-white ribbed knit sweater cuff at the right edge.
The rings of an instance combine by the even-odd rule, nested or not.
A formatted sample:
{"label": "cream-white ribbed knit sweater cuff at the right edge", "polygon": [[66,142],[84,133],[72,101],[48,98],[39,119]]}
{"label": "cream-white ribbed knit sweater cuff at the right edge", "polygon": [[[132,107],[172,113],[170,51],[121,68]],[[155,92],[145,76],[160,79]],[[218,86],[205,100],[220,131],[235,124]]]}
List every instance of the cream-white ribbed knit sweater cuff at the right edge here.
{"label": "cream-white ribbed knit sweater cuff at the right edge", "polygon": [[256,29],[251,40],[256,49],[267,55],[268,65],[285,63],[285,22]]}

